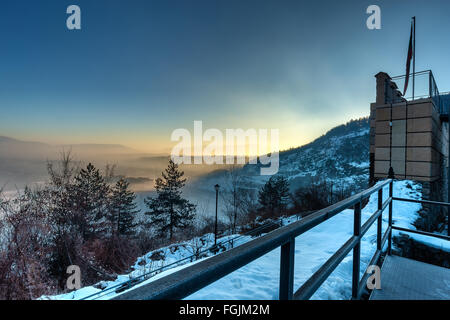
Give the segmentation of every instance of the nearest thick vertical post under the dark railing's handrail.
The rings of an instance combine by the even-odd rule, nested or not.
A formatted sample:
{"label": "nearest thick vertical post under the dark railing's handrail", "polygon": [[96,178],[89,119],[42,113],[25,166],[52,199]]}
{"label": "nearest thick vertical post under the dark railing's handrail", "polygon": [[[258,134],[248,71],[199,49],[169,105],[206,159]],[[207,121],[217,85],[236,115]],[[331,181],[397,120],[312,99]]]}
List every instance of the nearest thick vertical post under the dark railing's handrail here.
{"label": "nearest thick vertical post under the dark railing's handrail", "polygon": [[295,238],[281,246],[280,254],[280,300],[292,300],[294,294]]}

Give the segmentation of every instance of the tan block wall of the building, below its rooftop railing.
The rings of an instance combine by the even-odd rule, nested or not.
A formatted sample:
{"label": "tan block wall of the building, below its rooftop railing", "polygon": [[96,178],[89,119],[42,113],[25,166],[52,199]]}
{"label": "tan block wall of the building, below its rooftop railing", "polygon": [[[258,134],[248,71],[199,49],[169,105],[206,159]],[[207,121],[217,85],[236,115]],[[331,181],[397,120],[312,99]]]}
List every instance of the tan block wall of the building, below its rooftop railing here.
{"label": "tan block wall of the building, below its rooftop railing", "polygon": [[375,109],[374,177],[432,182],[441,177],[442,129],[431,99]]}

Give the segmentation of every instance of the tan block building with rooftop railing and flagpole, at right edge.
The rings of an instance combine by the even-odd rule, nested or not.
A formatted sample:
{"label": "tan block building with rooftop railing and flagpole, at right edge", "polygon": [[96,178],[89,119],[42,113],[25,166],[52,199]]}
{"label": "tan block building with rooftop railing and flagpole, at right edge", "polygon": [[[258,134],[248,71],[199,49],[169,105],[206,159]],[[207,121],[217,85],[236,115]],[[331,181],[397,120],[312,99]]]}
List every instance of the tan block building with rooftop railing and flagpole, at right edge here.
{"label": "tan block building with rooftop railing and flagpole, at right edge", "polygon": [[[396,179],[422,182],[430,200],[448,200],[449,95],[439,94],[431,70],[417,72],[427,82],[412,98],[404,98],[396,82],[379,72],[376,101],[370,105],[370,182]],[[412,86],[410,80],[409,86]]]}

